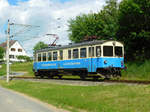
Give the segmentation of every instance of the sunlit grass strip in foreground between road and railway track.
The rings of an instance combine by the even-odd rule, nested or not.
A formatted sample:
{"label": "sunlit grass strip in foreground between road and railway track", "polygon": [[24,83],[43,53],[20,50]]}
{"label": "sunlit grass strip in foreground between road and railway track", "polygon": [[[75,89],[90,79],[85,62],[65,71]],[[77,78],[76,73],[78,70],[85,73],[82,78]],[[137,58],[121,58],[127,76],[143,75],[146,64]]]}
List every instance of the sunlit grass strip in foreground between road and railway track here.
{"label": "sunlit grass strip in foreground between road and railway track", "polygon": [[69,86],[50,83],[0,81],[3,87],[24,93],[71,112],[149,112],[150,86]]}

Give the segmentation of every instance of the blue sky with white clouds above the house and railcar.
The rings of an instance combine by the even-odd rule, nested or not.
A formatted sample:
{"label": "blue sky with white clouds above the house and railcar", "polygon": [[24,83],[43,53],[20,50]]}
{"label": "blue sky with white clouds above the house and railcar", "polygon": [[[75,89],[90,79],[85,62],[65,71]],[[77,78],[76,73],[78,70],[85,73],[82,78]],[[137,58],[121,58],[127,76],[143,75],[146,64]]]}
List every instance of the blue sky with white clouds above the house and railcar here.
{"label": "blue sky with white clouds above the house and railcar", "polygon": [[9,19],[15,23],[10,27],[11,39],[18,40],[29,56],[39,41],[53,42],[54,38],[46,34],[57,34],[57,44],[66,45],[70,43],[68,20],[97,13],[104,5],[105,0],[0,0],[0,43],[6,41]]}

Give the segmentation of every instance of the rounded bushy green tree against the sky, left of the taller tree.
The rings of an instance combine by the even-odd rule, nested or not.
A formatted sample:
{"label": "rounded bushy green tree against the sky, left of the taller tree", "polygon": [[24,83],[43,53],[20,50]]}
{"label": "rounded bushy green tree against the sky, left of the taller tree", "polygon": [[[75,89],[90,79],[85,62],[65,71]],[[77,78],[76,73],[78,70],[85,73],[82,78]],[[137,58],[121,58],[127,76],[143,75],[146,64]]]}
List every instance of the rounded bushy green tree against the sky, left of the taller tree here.
{"label": "rounded bushy green tree against the sky, left of the taller tree", "polygon": [[85,36],[97,36],[96,27],[94,14],[77,16],[75,19],[69,20],[69,39],[80,42]]}

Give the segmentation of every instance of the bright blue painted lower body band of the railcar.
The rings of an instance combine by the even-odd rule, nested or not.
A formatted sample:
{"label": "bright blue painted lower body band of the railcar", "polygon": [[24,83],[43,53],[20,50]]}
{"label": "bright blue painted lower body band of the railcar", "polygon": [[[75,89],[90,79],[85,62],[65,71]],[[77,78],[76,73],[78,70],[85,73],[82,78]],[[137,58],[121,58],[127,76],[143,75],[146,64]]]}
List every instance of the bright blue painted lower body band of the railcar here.
{"label": "bright blue painted lower body band of the railcar", "polygon": [[87,69],[88,72],[96,72],[98,68],[124,68],[124,58],[86,58],[74,60],[60,60],[47,62],[34,62],[33,69],[51,70],[51,69]]}

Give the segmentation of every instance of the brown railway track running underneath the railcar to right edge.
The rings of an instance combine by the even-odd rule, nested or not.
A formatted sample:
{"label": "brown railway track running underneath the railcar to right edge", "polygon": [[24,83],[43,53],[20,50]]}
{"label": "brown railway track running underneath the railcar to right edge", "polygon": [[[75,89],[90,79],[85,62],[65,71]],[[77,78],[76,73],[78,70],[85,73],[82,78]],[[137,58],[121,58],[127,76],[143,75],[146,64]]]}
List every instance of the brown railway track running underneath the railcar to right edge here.
{"label": "brown railway track running underneath the railcar to right edge", "polygon": [[106,83],[126,83],[126,84],[143,84],[143,85],[150,85],[150,81],[147,81],[147,80],[143,80],[143,81],[140,81],[140,80],[92,80],[92,79],[87,79],[87,80],[81,80],[81,79],[73,79],[73,78],[62,78],[62,79],[48,79],[48,78],[45,78],[45,79],[41,79],[41,78],[36,78],[36,77],[21,77],[21,76],[13,76],[11,77],[11,79],[31,79],[31,80],[49,80],[49,81],[82,81],[82,82],[106,82]]}

